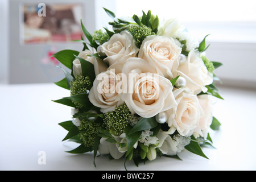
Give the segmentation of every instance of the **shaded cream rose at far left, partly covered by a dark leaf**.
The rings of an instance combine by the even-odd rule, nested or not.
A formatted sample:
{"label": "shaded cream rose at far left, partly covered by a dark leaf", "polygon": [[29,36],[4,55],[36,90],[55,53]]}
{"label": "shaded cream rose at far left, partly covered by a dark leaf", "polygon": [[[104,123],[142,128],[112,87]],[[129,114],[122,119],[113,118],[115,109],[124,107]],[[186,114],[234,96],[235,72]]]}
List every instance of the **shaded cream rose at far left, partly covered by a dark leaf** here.
{"label": "shaded cream rose at far left, partly covered by a dark leaf", "polygon": [[[94,48],[93,48],[93,53],[96,53],[96,50]],[[78,57],[81,57],[82,59],[85,59],[86,61],[89,61],[90,63],[92,63],[94,66],[95,75],[97,76],[99,73],[106,71],[108,66],[101,59],[88,56],[91,54],[92,52],[86,49],[85,51],[79,52]],[[82,73],[81,63],[79,59],[76,58],[75,60],[73,60],[73,74],[76,76],[76,75],[81,75],[81,73]]]}

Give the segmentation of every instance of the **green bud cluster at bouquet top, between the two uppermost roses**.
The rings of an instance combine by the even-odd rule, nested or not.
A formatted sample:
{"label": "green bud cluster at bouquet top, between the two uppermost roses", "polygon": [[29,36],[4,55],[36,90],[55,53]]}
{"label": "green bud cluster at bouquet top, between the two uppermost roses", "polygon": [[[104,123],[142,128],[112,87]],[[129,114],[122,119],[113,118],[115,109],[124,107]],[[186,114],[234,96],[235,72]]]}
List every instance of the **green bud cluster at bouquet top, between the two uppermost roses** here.
{"label": "green bud cluster at bouquet top, between the two uppermost roses", "polygon": [[152,32],[150,27],[145,25],[137,26],[130,25],[127,30],[133,35],[135,42],[137,43],[137,47],[140,48],[143,40],[149,35],[155,35],[155,32]]}

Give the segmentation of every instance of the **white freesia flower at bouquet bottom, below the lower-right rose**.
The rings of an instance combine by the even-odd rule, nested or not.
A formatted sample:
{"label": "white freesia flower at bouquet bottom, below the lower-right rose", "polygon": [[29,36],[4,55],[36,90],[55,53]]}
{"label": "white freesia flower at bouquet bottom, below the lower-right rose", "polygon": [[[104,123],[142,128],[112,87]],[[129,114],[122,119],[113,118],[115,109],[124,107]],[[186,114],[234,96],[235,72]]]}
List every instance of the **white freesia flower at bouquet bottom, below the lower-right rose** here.
{"label": "white freesia flower at bouquet bottom, below the lower-right rose", "polygon": [[156,137],[159,139],[159,150],[166,155],[176,155],[184,150],[184,147],[190,142],[189,139],[181,135],[175,135],[174,138],[171,138],[168,131],[163,130],[160,130]]}

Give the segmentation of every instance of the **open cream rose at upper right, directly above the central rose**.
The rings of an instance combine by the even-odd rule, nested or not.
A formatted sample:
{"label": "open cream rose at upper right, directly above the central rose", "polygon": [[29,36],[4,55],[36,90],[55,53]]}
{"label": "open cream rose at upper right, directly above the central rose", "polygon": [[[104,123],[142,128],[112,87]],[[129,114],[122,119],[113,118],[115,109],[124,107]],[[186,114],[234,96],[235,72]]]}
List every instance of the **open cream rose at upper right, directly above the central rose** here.
{"label": "open cream rose at upper right, directly above the central rose", "polygon": [[174,39],[151,35],[143,40],[138,57],[148,61],[158,70],[159,75],[173,78],[172,65],[180,53],[181,48],[175,44]]}

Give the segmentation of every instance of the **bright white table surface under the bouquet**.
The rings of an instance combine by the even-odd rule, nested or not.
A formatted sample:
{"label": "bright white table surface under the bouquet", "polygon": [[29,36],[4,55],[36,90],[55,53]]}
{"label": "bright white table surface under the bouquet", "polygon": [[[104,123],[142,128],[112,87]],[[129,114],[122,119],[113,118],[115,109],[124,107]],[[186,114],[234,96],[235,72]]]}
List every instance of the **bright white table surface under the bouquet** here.
{"label": "bright white table surface under the bouquet", "polygon": [[[211,133],[217,149],[203,148],[208,159],[188,151],[183,159],[157,158],[128,170],[255,170],[256,169],[256,91],[220,88],[225,101],[217,100],[214,115],[221,128]],[[67,134],[58,123],[71,119],[71,107],[52,102],[69,96],[54,84],[0,85],[0,169],[1,170],[124,170],[123,159],[96,158],[93,154],[73,155],[76,147],[61,142]],[[72,146],[73,145],[73,146]],[[39,164],[40,151],[46,164]]]}

